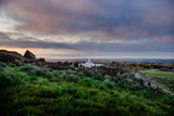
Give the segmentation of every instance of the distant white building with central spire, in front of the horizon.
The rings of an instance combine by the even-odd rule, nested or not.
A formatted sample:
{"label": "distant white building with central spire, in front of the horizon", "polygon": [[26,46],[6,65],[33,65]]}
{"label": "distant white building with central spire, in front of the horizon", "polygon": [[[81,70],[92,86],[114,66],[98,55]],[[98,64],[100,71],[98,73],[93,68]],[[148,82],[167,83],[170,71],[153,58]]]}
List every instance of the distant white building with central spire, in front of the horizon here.
{"label": "distant white building with central spire, in front of the horizon", "polygon": [[86,63],[79,64],[83,67],[100,67],[103,66],[103,64],[95,64],[90,59]]}

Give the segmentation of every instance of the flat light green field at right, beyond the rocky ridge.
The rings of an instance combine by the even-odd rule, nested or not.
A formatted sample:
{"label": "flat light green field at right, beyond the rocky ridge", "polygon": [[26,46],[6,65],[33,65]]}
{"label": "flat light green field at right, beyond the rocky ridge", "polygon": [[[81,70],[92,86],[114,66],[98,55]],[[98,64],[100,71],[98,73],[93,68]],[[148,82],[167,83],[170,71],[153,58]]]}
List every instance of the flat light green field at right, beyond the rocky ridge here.
{"label": "flat light green field at right, beyond the rocky ridge", "polygon": [[172,91],[174,91],[174,72],[163,72],[163,70],[153,70],[153,69],[141,69],[139,72],[156,79],[160,83],[165,85]]}

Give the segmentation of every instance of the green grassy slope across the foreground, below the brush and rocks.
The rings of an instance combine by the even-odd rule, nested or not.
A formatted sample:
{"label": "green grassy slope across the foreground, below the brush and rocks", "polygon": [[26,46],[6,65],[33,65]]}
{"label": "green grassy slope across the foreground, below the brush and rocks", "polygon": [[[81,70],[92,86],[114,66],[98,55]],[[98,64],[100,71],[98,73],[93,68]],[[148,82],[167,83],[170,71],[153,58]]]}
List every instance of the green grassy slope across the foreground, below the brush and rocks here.
{"label": "green grassy slope across the foreground, below the brush and rocks", "polygon": [[0,65],[0,115],[172,115],[174,94],[122,88],[75,70]]}

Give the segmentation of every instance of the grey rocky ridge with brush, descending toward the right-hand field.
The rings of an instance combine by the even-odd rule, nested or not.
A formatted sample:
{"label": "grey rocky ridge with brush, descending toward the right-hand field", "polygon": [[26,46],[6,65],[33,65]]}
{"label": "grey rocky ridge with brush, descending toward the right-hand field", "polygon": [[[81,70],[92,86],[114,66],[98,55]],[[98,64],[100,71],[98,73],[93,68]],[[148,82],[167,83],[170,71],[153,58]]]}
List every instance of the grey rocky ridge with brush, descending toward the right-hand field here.
{"label": "grey rocky ridge with brush, descending toward the right-hand field", "polygon": [[[96,68],[83,68],[83,72],[86,76],[94,76],[100,74],[101,76],[109,75],[108,77],[111,78],[111,80],[119,81],[120,79],[133,81],[133,86],[144,86],[150,90],[153,90],[156,92],[162,92],[162,93],[172,93],[170,89],[158,81],[156,81],[153,78],[150,78],[146,76],[145,74],[139,73],[135,69],[129,69],[128,67],[120,68],[119,70],[115,68],[109,68],[109,67],[96,67]],[[127,77],[117,78],[117,73],[120,73],[122,76],[123,74],[127,74]]]}

